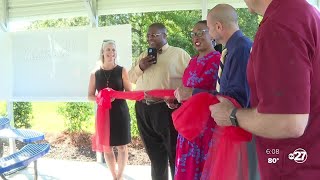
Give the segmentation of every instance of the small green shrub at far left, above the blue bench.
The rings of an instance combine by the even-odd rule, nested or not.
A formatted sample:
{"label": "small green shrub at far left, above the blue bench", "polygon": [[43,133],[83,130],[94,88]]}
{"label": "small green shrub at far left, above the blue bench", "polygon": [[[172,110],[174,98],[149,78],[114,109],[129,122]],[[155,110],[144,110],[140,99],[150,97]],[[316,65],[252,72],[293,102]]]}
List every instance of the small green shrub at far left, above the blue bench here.
{"label": "small green shrub at far left, above the blue bench", "polygon": [[13,118],[16,128],[30,128],[33,119],[31,102],[14,102]]}

